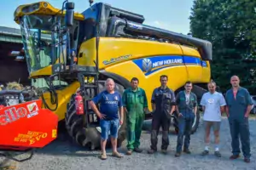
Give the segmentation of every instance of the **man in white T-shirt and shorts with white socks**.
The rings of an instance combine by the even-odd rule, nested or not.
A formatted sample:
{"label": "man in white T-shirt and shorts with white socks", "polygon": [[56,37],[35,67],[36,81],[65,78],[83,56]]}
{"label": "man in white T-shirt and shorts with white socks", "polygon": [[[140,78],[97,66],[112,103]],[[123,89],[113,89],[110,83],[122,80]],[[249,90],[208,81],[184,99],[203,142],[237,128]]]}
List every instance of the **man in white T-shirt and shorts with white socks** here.
{"label": "man in white T-shirt and shorts with white socks", "polygon": [[211,81],[208,83],[208,90],[201,98],[201,105],[203,109],[203,120],[205,127],[205,150],[201,153],[202,156],[209,154],[210,133],[213,128],[215,136],[215,152],[214,155],[221,157],[218,150],[219,144],[219,128],[221,122],[221,114],[224,112],[224,105],[226,105],[223,94],[216,92],[216,83]]}

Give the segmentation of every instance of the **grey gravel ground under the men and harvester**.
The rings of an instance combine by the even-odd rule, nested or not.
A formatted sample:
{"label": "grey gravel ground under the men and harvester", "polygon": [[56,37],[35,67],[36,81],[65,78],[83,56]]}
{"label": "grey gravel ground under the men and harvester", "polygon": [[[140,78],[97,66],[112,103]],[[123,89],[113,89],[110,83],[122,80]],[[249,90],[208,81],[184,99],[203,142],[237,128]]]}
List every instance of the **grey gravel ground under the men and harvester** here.
{"label": "grey gravel ground under the men and harvester", "polygon": [[[251,163],[245,163],[241,158],[235,161],[230,161],[229,156],[231,154],[230,146],[230,128],[226,118],[223,118],[221,127],[221,144],[220,151],[222,153],[221,158],[217,158],[212,155],[212,150],[209,156],[202,157],[199,154],[204,149],[203,142],[203,128],[198,128],[197,132],[191,136],[190,150],[191,155],[183,154],[181,157],[174,157],[176,139],[177,136],[170,134],[170,146],[168,148],[167,156],[161,153],[154,155],[148,155],[150,144],[150,136],[148,132],[144,132],[142,136],[141,148],[145,151],[141,154],[134,153],[132,156],[124,156],[122,159],[108,156],[108,160],[102,161],[98,158],[99,151],[86,151],[72,144],[69,141],[61,139],[55,140],[52,144],[49,144],[42,150],[37,150],[32,160],[21,162],[17,165],[17,169],[20,170],[81,170],[81,169],[95,169],[95,170],[106,170],[106,169],[122,169],[122,170],[146,170],[146,169],[247,169],[256,170],[256,121],[255,118],[250,120],[251,129],[251,150],[252,158]],[[159,138],[159,146],[160,146]],[[213,142],[213,138],[212,138]],[[213,145],[212,145],[213,146]],[[211,148],[213,149],[213,148]],[[125,143],[119,149],[121,153],[125,153]],[[108,150],[109,155],[111,150]],[[0,161],[3,159],[0,158]]]}

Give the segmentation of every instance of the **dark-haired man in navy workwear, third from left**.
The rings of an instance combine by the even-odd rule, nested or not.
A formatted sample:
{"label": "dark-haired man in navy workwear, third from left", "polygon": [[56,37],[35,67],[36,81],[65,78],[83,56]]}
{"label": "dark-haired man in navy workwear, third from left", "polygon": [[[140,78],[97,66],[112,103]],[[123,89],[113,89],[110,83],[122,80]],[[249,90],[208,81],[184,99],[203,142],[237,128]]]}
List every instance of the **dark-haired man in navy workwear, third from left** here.
{"label": "dark-haired man in navy workwear, third from left", "polygon": [[171,116],[175,111],[175,94],[172,89],[167,87],[168,77],[166,75],[160,76],[161,86],[155,88],[152,94],[151,105],[153,110],[152,132],[151,132],[151,146],[148,154],[153,154],[157,151],[157,136],[160,127],[162,127],[162,146],[161,150],[164,154],[167,153],[169,145],[169,127]]}

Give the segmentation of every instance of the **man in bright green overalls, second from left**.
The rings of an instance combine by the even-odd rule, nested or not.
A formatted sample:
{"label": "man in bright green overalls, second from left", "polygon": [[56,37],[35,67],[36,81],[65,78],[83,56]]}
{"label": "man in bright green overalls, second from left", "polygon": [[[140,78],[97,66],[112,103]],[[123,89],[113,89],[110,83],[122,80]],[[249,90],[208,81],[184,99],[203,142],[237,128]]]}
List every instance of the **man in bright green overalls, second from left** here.
{"label": "man in bright green overalls, second from left", "polygon": [[139,145],[148,100],[143,88],[138,88],[138,83],[137,77],[133,77],[131,88],[127,88],[122,97],[127,122],[127,155],[131,155],[133,150],[139,153],[143,151]]}

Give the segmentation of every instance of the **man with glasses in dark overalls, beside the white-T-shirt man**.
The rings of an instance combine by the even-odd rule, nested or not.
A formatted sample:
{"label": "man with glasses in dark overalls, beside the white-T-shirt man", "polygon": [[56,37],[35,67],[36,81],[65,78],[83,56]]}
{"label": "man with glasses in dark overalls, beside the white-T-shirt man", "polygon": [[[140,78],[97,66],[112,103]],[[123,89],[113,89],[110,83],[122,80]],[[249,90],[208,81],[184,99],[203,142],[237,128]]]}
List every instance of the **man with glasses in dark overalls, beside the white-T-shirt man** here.
{"label": "man with glasses in dark overalls, beside the white-T-shirt man", "polygon": [[189,150],[190,133],[197,111],[197,98],[196,95],[191,92],[192,82],[186,82],[184,88],[185,90],[180,91],[176,98],[176,111],[178,116],[176,157],[181,155],[183,136],[185,136],[183,151],[187,154],[191,153]]}

